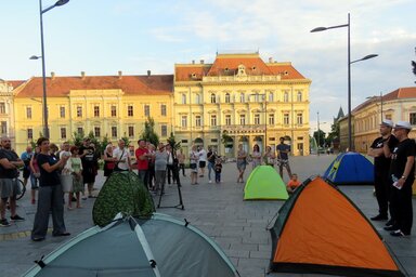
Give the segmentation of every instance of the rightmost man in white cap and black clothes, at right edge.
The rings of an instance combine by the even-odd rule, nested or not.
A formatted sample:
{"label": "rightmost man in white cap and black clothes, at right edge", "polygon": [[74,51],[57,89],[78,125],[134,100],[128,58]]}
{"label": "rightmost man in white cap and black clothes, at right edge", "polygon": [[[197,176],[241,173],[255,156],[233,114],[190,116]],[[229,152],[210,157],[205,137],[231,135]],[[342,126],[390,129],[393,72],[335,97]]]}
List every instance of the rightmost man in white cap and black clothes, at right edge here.
{"label": "rightmost man in white cap and black clothes, at right edge", "polygon": [[399,144],[391,154],[391,208],[394,211],[395,223],[390,235],[404,237],[411,235],[413,223],[412,185],[415,180],[415,141],[408,138],[412,126],[406,121],[399,121],[394,126],[394,135]]}

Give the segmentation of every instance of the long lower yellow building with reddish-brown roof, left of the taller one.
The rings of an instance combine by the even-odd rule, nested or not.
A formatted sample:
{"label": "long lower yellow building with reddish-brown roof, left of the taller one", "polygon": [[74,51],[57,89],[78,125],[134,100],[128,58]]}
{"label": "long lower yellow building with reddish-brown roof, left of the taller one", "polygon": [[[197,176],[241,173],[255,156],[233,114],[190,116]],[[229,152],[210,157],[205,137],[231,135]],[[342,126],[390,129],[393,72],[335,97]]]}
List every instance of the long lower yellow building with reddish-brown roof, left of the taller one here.
{"label": "long lower yellow building with reddish-brown roof, left of the taller one", "polygon": [[[116,142],[134,143],[148,116],[161,140],[169,137],[173,117],[172,75],[87,76],[47,78],[51,141],[61,144],[74,132],[90,132]],[[31,78],[14,91],[15,148],[22,153],[42,133],[42,78]]]}

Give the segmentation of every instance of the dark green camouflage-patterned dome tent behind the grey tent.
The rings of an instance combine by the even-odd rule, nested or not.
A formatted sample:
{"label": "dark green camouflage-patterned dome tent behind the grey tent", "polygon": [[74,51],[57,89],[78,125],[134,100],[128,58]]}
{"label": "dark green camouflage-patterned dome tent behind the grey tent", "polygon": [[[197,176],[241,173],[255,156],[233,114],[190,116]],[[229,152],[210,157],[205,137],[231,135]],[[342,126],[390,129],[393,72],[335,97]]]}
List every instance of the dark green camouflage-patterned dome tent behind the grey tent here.
{"label": "dark green camouflage-patterned dome tent behind the grey tent", "polygon": [[105,181],[92,209],[94,224],[104,226],[118,213],[151,216],[155,212],[153,199],[134,172],[114,172]]}

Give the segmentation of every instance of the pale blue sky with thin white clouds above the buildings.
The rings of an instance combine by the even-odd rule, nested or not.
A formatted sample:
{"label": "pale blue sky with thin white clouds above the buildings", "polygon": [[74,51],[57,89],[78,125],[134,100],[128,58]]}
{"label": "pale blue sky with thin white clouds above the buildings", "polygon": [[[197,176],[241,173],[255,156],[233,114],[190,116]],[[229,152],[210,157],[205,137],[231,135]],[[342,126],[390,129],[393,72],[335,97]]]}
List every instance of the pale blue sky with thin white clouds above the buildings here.
{"label": "pale blue sky with thin white clouds above the buildings", "polygon": [[[43,0],[43,9],[54,4]],[[291,62],[312,80],[311,131],[328,132],[348,111],[347,28],[351,14],[352,109],[366,97],[414,87],[415,0],[70,0],[43,13],[47,75],[173,74],[174,64],[216,53],[259,52]],[[41,76],[39,1],[0,1],[0,79]]]}

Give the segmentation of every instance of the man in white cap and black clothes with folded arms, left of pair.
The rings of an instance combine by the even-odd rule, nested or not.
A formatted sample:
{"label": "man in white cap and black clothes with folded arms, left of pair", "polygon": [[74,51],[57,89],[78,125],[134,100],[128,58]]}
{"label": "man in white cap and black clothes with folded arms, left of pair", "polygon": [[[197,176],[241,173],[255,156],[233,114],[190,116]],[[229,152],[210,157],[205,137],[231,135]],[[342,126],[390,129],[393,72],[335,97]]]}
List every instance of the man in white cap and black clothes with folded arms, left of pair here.
{"label": "man in white cap and black clothes with folded arms, left of pair", "polygon": [[[368,156],[374,157],[374,187],[376,189],[376,198],[378,202],[378,214],[370,217],[372,221],[387,221],[389,209],[389,169],[390,156],[399,141],[391,134],[393,121],[389,119],[382,120],[380,123],[380,134],[372,146],[369,146]],[[384,147],[386,145],[386,147]],[[390,209],[390,220],[393,221],[393,214]],[[390,225],[390,223],[389,223]]]}

